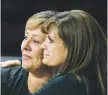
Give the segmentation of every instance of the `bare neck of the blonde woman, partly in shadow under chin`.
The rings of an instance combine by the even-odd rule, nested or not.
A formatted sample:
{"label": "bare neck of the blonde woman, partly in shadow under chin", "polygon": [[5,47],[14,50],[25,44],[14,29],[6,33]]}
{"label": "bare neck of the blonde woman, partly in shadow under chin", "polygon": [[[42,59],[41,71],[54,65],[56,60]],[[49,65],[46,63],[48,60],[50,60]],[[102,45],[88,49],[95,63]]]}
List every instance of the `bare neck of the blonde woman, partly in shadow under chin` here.
{"label": "bare neck of the blonde woman, partly in shadow under chin", "polygon": [[29,71],[28,89],[31,93],[38,91],[44,84],[56,74],[56,69],[42,67],[35,72]]}

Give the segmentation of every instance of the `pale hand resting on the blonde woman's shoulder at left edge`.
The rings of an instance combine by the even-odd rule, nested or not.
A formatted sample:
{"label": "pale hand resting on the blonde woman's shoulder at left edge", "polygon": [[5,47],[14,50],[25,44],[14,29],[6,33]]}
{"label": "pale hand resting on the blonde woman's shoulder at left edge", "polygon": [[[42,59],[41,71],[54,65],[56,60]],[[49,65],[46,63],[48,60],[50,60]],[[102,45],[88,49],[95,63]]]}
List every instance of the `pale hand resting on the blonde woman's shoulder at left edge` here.
{"label": "pale hand resting on the blonde woman's shoulder at left edge", "polygon": [[0,62],[0,67],[7,68],[12,66],[20,66],[21,62],[19,60],[8,60],[4,62]]}

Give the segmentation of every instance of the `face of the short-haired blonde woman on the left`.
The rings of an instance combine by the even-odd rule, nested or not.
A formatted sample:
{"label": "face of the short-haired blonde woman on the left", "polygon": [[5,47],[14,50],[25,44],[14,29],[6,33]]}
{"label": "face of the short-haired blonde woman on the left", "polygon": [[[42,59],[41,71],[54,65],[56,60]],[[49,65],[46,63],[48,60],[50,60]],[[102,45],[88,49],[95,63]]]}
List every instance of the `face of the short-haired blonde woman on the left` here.
{"label": "face of the short-haired blonde woman on the left", "polygon": [[36,70],[42,65],[41,44],[44,42],[46,34],[41,32],[41,28],[26,30],[25,39],[22,42],[22,66],[27,70]]}

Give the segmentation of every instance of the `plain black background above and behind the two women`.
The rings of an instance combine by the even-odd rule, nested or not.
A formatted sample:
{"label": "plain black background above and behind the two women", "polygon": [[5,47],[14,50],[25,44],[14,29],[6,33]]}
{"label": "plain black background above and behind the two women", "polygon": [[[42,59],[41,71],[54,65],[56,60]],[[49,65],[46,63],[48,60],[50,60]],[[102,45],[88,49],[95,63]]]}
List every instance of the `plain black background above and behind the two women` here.
{"label": "plain black background above and behind the two women", "polygon": [[21,55],[24,27],[31,15],[71,9],[89,12],[107,34],[107,0],[1,0],[1,55]]}

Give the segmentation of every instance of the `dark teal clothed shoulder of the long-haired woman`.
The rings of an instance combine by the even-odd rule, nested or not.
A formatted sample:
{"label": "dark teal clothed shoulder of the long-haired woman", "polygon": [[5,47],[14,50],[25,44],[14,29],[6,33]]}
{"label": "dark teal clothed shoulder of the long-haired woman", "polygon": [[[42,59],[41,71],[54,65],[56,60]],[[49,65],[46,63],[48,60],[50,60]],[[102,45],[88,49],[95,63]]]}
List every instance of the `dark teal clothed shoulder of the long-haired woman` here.
{"label": "dark teal clothed shoulder of the long-haired woman", "polygon": [[75,74],[61,73],[40,89],[40,95],[86,95],[84,84]]}

